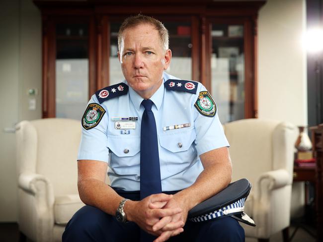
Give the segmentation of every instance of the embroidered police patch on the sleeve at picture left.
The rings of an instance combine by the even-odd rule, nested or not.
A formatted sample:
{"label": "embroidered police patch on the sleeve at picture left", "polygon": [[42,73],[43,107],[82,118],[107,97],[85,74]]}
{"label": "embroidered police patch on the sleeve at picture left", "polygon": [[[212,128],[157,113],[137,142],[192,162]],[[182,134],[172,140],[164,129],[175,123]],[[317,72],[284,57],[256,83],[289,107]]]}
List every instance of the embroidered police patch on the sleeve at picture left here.
{"label": "embroidered police patch on the sleeve at picture left", "polygon": [[90,129],[95,127],[101,121],[105,110],[97,103],[90,103],[82,117],[82,127]]}

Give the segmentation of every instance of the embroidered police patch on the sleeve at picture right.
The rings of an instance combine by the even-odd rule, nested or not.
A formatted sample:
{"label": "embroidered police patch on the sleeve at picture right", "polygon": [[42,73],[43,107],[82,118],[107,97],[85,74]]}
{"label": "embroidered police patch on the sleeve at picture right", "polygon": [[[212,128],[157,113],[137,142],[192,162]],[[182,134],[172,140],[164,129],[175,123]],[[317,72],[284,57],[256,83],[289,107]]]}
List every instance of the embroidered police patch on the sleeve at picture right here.
{"label": "embroidered police patch on the sleeve at picture right", "polygon": [[201,115],[206,117],[214,117],[217,113],[217,106],[208,91],[199,93],[194,106]]}

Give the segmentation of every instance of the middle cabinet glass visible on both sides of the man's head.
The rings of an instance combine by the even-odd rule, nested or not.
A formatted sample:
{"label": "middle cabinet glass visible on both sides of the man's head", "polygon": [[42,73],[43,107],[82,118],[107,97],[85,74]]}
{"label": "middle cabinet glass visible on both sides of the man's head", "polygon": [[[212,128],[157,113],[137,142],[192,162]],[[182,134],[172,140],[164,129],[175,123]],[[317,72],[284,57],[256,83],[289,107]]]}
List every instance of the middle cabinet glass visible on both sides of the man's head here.
{"label": "middle cabinet glass visible on both sides of the man's head", "polygon": [[[162,21],[168,29],[169,49],[172,51],[169,74],[181,79],[192,79],[192,41],[190,21]],[[118,60],[118,31],[121,21],[110,22],[109,85],[124,80]]]}

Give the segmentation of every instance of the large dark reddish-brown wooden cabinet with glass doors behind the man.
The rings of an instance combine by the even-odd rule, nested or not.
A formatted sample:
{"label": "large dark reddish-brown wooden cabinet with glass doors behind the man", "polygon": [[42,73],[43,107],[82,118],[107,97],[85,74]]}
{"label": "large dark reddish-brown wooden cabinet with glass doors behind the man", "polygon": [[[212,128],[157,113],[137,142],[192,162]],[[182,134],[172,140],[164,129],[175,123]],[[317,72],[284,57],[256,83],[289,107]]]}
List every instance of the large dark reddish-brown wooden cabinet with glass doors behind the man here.
{"label": "large dark reddish-brown wooden cabinet with glass doors behind the man", "polygon": [[172,75],[202,82],[222,122],[257,117],[257,12],[265,1],[43,1],[43,117],[81,117],[97,89],[123,79],[117,31],[138,13],[169,31]]}

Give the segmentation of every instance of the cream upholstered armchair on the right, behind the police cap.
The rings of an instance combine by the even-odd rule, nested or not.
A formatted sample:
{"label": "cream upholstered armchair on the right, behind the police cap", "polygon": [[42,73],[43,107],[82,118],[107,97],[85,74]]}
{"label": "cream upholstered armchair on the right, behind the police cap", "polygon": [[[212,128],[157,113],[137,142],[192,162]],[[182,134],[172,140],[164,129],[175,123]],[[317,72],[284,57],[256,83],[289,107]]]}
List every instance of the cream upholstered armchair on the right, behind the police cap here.
{"label": "cream upholstered armchair on the right, behind the police cap", "polygon": [[257,226],[242,225],[246,237],[269,241],[271,235],[283,231],[287,241],[297,127],[247,119],[227,123],[224,129],[230,143],[232,180],[246,178],[252,184],[245,212]]}

